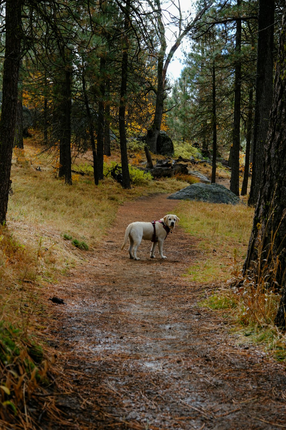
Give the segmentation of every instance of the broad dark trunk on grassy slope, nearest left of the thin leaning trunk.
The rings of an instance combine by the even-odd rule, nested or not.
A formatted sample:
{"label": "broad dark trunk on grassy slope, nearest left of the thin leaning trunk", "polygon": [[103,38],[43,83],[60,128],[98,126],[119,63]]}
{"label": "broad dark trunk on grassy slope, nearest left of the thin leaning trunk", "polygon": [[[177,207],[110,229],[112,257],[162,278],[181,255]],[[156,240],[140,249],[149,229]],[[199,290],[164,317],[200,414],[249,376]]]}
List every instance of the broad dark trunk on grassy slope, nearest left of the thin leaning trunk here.
{"label": "broad dark trunk on grassy slope, nearest left of the thin leaning trunk", "polygon": [[65,184],[72,185],[72,157],[71,157],[71,124],[70,113],[72,74],[70,66],[65,68],[65,82],[63,83],[63,103],[61,112],[61,138],[60,138],[60,170],[59,176],[65,177]]}

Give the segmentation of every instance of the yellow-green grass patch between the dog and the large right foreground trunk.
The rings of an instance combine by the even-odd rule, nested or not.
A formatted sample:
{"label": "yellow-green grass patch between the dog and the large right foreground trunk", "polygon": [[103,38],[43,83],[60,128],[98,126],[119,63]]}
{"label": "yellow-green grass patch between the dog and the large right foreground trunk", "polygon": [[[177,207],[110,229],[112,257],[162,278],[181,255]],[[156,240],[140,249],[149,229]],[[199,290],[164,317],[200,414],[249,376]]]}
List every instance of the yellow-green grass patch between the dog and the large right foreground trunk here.
{"label": "yellow-green grass patch between the dog and the large right foreground trunk", "polygon": [[[187,277],[210,284],[230,277],[234,264],[244,261],[253,220],[253,209],[245,205],[202,202],[179,203],[181,224],[199,240],[200,258]],[[202,264],[202,259],[204,263]]]}

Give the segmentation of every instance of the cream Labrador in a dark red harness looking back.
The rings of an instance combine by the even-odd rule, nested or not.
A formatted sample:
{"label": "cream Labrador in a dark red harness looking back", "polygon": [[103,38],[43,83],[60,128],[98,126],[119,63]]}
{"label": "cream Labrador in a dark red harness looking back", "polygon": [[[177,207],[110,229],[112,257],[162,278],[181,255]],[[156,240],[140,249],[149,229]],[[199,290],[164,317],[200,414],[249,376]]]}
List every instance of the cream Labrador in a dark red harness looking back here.
{"label": "cream Labrador in a dark red harness looking back", "polygon": [[163,255],[163,242],[168,236],[169,232],[175,228],[175,224],[178,224],[180,218],[177,215],[165,215],[160,221],[152,222],[141,222],[136,221],[129,224],[125,231],[125,237],[121,250],[124,249],[127,239],[129,240],[129,256],[134,260],[140,260],[137,257],[137,249],[140,245],[142,239],[151,240],[153,242],[150,258],[155,258],[154,252],[158,243],[159,253],[161,258],[167,258]]}

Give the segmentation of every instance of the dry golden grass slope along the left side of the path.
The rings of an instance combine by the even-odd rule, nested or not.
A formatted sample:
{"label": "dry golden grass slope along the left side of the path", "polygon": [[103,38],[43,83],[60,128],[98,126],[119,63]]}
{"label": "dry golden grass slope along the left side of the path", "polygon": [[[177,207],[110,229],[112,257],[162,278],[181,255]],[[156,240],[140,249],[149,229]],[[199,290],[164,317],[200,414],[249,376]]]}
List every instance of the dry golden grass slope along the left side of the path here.
{"label": "dry golden grass slope along the left side of the path", "polygon": [[[77,159],[80,169],[86,162]],[[0,228],[0,422],[10,421],[15,429],[34,428],[26,403],[34,390],[50,383],[53,356],[43,336],[49,285],[88,258],[88,251],[64,236],[84,241],[92,251],[124,201],[187,185],[174,178],[123,190],[108,178],[96,187],[87,169],[66,186],[55,177],[56,164],[52,154],[40,155],[28,140],[24,151],[13,152],[13,194],[7,224]],[[38,357],[35,348],[41,351]],[[43,410],[56,413],[54,405],[44,405],[44,393],[40,399]]]}

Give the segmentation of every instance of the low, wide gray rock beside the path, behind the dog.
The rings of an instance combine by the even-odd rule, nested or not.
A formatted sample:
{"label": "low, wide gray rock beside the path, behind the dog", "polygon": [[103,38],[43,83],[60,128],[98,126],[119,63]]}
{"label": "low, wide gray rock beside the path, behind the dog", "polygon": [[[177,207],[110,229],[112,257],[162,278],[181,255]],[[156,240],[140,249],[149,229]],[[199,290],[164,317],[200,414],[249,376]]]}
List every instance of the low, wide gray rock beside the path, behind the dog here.
{"label": "low, wide gray rock beside the path, behind the dog", "polygon": [[237,205],[241,200],[232,191],[220,184],[192,184],[177,193],[171,194],[168,199],[197,200],[208,203],[229,203]]}

